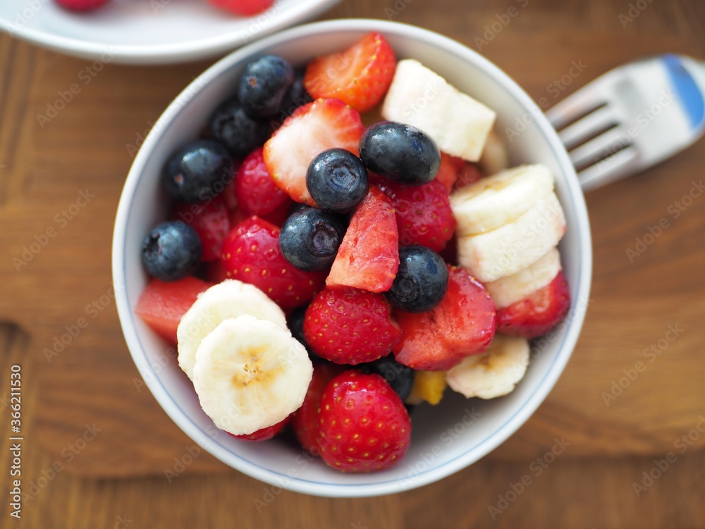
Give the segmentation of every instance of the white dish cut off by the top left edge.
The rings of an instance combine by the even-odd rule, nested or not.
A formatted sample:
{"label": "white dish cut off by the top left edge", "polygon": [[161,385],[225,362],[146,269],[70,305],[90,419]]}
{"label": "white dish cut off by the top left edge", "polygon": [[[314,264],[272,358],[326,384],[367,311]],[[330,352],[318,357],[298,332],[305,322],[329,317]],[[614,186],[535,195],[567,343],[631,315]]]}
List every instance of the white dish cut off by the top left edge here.
{"label": "white dish cut off by the top left edge", "polygon": [[0,30],[69,55],[103,62],[164,64],[222,55],[315,18],[340,0],[276,0],[238,17],[206,0],[111,0],[72,13],[54,0],[0,1]]}

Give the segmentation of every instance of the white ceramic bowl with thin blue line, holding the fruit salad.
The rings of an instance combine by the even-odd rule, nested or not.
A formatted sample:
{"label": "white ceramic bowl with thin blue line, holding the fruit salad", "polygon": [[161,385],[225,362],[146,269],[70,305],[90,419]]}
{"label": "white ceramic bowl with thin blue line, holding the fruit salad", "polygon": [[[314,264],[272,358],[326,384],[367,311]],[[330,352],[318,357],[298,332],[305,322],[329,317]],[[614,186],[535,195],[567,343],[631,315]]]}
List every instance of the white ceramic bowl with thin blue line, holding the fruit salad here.
{"label": "white ceramic bowl with thin blue line, holding the fruit salad", "polygon": [[[568,232],[560,243],[572,308],[551,340],[534,347],[527,375],[510,395],[492,401],[465,400],[448,390],[439,406],[419,406],[413,415],[412,444],[398,466],[379,473],[343,474],[300,449],[273,440],[241,442],[212,437],[211,420],[201,411],[192,384],[176,361],[162,367],[167,348],[136,317],[133,308],[147,275],[140,245],[166,214],[159,172],[183,142],[196,138],[202,123],[231,92],[240,69],[262,53],[305,63],[316,54],[344,49],[370,30],[382,32],[400,58],[415,57],[451,83],[498,111],[498,130],[530,116],[527,130],[508,143],[513,162],[543,162],[556,174]],[[135,158],[125,183],[113,241],[116,300],[125,340],[142,377],[166,413],[211,454],[258,480],[297,492],[331,497],[364,497],[408,490],[465,468],[507,439],[544,400],[575,346],[591,279],[591,239],[583,195],[558,136],[532,99],[505,73],[458,42],[409,25],[381,20],[333,20],[304,25],[235,51],[200,75],[159,119]],[[450,428],[450,430],[448,430]],[[148,433],[147,433],[148,434]]]}

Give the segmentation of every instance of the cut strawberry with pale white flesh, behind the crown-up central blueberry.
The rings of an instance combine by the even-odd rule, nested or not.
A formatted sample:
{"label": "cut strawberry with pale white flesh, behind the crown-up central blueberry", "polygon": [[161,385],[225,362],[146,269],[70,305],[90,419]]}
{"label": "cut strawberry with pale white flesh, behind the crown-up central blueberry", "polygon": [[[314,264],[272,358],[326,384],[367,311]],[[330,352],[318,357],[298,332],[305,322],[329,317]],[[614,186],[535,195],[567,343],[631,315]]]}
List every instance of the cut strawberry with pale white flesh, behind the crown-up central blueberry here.
{"label": "cut strawberry with pale white flesh, behind the crown-up central blueberry", "polygon": [[358,154],[364,132],[360,114],[340,99],[317,99],[299,107],[264,144],[264,164],[297,202],[315,205],[306,188],[306,171],[324,150],[340,147]]}

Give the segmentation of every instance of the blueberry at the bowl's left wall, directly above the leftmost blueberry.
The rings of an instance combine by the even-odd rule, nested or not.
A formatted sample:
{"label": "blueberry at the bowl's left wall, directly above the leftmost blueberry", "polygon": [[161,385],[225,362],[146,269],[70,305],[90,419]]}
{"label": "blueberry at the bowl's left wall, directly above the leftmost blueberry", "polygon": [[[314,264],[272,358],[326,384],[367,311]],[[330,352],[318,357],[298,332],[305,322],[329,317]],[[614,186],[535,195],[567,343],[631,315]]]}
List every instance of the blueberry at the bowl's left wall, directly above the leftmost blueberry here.
{"label": "blueberry at the bowl's left wall, directly above the leftmost blueberry", "polygon": [[171,155],[161,177],[176,199],[201,202],[214,198],[233,179],[233,159],[221,143],[197,140]]}

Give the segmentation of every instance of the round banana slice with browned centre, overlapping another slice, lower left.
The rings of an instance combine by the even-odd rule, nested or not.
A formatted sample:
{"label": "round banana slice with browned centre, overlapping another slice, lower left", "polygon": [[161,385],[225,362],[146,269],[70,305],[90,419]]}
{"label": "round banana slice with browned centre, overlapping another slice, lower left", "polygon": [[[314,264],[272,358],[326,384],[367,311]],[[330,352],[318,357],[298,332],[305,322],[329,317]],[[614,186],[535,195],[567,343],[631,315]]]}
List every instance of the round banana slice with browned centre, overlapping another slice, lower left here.
{"label": "round banana slice with browned centre, overlapping another slice, lower left", "polygon": [[243,315],[223,320],[201,341],[193,387],[217,427],[251,434],[300,408],[312,375],[306,348],[286,329]]}

